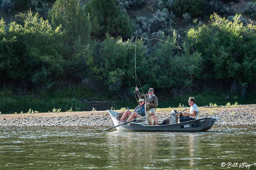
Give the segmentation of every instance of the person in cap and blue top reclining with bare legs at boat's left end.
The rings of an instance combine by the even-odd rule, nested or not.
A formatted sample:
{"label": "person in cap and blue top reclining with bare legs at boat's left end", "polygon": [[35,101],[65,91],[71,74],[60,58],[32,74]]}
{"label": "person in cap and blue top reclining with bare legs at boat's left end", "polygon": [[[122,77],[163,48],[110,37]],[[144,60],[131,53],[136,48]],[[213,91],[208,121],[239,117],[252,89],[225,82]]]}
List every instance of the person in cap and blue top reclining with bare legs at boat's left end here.
{"label": "person in cap and blue top reclining with bare legs at boat's left end", "polygon": [[120,121],[122,122],[125,117],[129,116],[128,121],[134,119],[134,118],[140,118],[145,117],[145,101],[144,99],[139,99],[138,101],[140,104],[134,109],[134,111],[126,110],[124,115],[120,118]]}

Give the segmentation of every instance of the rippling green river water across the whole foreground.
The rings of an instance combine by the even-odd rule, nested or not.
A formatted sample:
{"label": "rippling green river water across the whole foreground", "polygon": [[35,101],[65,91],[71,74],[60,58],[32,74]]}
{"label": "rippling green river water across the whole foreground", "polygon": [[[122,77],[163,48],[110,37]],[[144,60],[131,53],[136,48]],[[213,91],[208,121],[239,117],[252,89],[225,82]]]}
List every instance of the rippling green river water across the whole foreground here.
{"label": "rippling green river water across the whole foreground", "polygon": [[256,169],[256,126],[230,129],[0,127],[0,169]]}

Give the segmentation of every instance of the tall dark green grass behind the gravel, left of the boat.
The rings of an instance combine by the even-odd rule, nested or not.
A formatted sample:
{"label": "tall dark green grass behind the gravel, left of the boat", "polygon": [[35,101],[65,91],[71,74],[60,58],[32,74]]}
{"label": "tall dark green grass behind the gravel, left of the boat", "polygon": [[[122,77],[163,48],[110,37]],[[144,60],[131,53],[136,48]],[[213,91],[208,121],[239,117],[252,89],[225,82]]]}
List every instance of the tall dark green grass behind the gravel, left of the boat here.
{"label": "tall dark green grass behind the gravel, left of the boat", "polygon": [[[40,97],[39,97],[40,96]],[[39,112],[48,112],[53,108],[61,111],[86,110],[87,104],[81,102],[81,97],[94,97],[91,89],[84,87],[67,87],[44,90],[38,94],[15,96],[12,91],[4,88],[0,91],[0,108],[2,113],[27,113],[29,109]]]}

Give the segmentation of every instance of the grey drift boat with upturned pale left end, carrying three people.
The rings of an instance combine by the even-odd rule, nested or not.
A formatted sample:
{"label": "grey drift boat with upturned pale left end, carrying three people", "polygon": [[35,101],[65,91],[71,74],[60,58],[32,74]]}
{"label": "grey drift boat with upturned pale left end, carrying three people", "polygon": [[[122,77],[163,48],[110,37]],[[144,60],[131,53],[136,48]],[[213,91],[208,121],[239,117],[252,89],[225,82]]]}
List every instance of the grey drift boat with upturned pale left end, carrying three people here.
{"label": "grey drift boat with upturned pale left end, carrying three people", "polygon": [[[122,113],[118,113],[117,111],[108,110],[108,113],[111,115],[113,120],[113,124],[120,125],[124,124],[124,122],[120,122],[118,120]],[[116,127],[118,131],[120,130],[128,130],[128,131],[176,131],[176,132],[198,132],[198,131],[207,131],[211,129],[214,122],[220,118],[211,118],[205,117],[197,120],[190,120],[188,122],[182,122],[179,124],[164,124],[159,125],[147,125],[145,122],[135,121],[129,124],[124,124]]]}

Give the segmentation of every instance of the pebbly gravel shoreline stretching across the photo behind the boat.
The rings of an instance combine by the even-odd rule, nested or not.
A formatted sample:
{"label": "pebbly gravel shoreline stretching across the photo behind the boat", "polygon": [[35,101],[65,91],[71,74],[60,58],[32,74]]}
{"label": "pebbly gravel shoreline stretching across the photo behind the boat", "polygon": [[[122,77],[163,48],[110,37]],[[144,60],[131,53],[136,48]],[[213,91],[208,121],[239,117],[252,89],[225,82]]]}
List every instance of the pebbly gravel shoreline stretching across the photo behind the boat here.
{"label": "pebbly gravel shoreline stretching across the photo behind the boat", "polygon": [[[158,120],[170,116],[172,110],[184,108],[157,108]],[[189,110],[189,108],[187,108]],[[203,117],[221,117],[216,124],[226,125],[256,125],[256,104],[239,106],[220,106],[214,108],[200,107]],[[79,111],[61,113],[22,113],[0,115],[0,127],[85,127],[85,126],[113,126],[107,111]]]}

